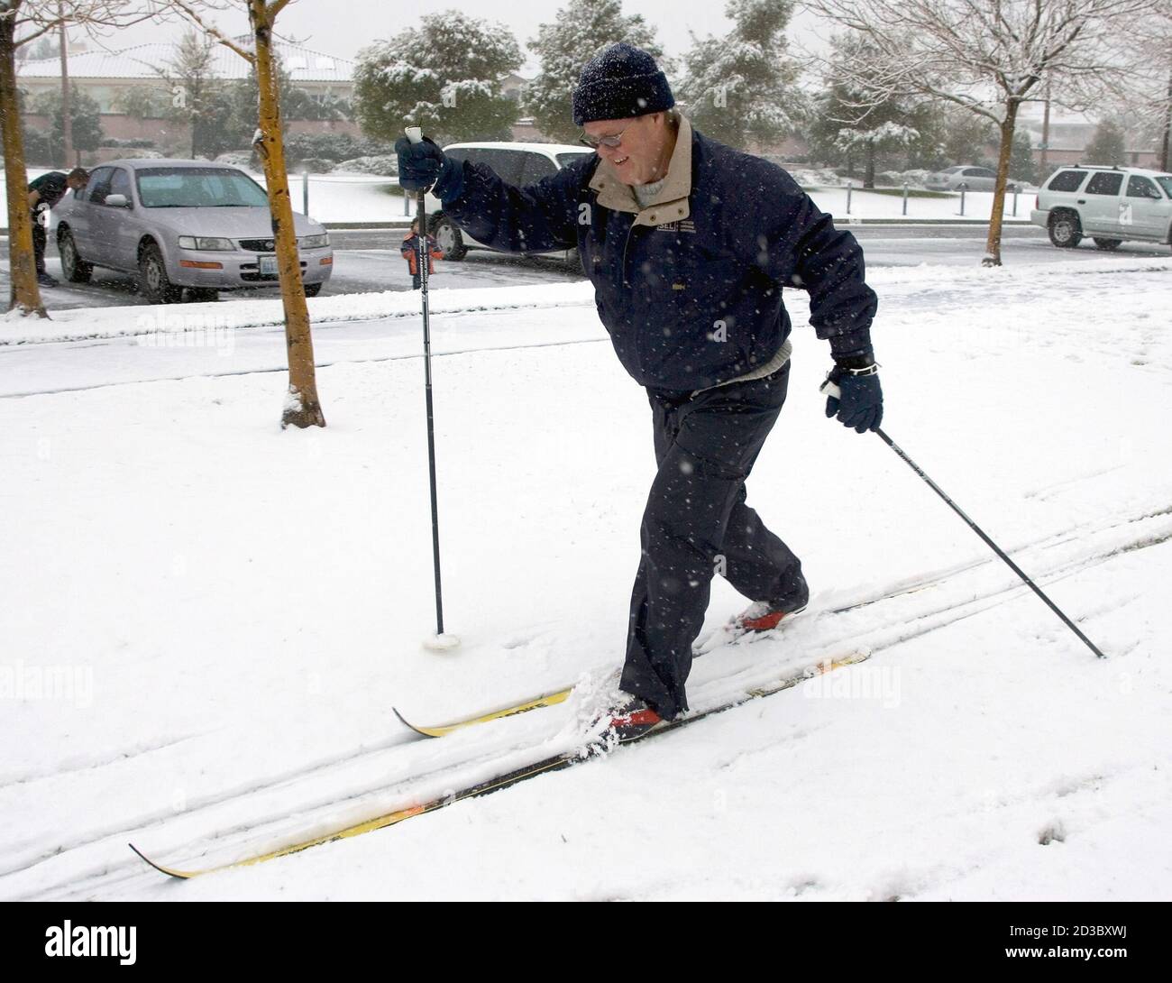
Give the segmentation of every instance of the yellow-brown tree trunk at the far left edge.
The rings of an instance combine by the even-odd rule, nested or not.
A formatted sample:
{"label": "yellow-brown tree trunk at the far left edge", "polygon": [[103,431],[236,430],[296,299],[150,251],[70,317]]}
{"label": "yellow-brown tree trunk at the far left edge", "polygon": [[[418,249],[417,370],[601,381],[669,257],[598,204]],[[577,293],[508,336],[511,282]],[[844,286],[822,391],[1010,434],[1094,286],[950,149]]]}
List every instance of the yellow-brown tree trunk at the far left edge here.
{"label": "yellow-brown tree trunk at the far left edge", "polygon": [[16,46],[13,18],[0,19],[0,136],[4,138],[4,172],[8,184],[8,276],[12,292],[8,310],[47,318],[36,283],[33,255],[33,216],[28,208],[28,174],[25,171],[25,138],[20,131],[16,94]]}

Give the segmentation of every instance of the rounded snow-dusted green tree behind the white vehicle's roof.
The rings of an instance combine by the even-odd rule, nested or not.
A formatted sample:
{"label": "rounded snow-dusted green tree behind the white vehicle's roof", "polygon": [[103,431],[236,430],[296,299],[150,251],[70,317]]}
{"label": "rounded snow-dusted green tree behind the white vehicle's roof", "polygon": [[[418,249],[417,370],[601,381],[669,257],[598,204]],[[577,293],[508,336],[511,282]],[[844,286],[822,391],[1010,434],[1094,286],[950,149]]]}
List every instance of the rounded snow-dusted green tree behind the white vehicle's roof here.
{"label": "rounded snow-dusted green tree behind the white vehicle's roof", "polygon": [[444,11],[359,53],[354,111],[363,133],[386,141],[420,126],[443,143],[509,140],[518,108],[500,83],[522,65],[499,23]]}

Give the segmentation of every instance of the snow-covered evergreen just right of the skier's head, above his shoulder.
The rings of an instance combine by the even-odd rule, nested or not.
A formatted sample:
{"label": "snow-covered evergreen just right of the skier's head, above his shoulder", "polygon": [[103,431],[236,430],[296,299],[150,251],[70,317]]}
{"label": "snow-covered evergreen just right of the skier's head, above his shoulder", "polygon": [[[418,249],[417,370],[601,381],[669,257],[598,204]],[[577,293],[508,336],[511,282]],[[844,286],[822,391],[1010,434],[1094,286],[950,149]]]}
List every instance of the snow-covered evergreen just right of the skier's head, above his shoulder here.
{"label": "snow-covered evergreen just right of the skier's head, above his shoulder", "polygon": [[775,143],[805,117],[798,62],[786,50],[793,0],[729,0],[732,29],[723,38],[691,35],[676,99],[688,117],[731,147]]}

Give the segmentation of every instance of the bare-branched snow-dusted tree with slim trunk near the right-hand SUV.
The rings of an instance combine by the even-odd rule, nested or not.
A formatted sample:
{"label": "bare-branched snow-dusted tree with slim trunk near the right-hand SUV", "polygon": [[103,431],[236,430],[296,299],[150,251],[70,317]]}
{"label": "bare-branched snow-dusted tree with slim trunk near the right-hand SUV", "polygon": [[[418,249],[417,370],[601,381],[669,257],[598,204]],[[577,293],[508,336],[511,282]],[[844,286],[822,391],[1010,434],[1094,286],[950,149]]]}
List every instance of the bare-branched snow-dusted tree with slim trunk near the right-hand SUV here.
{"label": "bare-branched snow-dusted tree with slim trunk near the right-hand SUV", "polygon": [[1086,108],[1122,83],[1137,18],[1167,0],[812,0],[859,32],[857,61],[838,81],[947,100],[999,129],[997,181],[984,264],[1001,265],[1001,217],[1017,113],[1043,80],[1055,101]]}

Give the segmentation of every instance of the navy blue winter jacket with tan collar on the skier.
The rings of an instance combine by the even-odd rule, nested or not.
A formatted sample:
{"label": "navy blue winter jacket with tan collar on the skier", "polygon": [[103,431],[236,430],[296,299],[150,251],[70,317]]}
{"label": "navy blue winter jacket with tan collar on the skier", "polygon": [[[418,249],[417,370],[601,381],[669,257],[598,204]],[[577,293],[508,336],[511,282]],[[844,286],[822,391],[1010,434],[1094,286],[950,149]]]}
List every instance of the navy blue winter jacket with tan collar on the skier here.
{"label": "navy blue winter jacket with tan collar on the skier", "polygon": [[577,246],[614,350],[643,386],[690,392],[768,362],[790,333],[783,286],[810,292],[810,321],[836,357],[872,354],[877,300],[854,237],[779,167],[686,118],[646,209],[594,154],[526,188],[458,167],[436,187],[444,212],[493,249]]}

